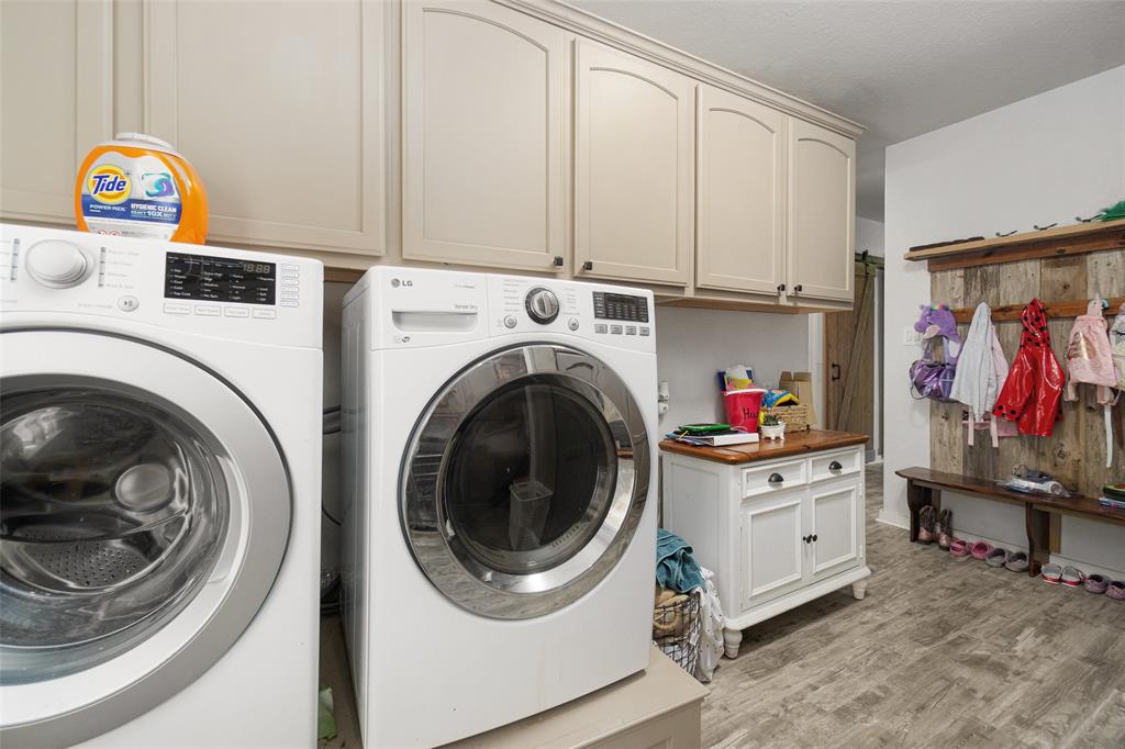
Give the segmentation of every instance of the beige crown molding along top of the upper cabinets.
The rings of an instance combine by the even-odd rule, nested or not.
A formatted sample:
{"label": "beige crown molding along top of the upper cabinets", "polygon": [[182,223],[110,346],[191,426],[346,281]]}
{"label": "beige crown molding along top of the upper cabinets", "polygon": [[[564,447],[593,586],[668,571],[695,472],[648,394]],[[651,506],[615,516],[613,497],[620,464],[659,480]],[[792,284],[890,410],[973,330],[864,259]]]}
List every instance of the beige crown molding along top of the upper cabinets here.
{"label": "beige crown molding along top of the upper cabinets", "polygon": [[754,101],[816,123],[849,138],[858,138],[866,127],[832,114],[814,103],[799,99],[773,87],[759,83],[735,71],[710,63],[693,54],[630,30],[598,16],[558,0],[493,0],[521,10],[574,34],[596,39],[663,65],[704,83],[726,89]]}

